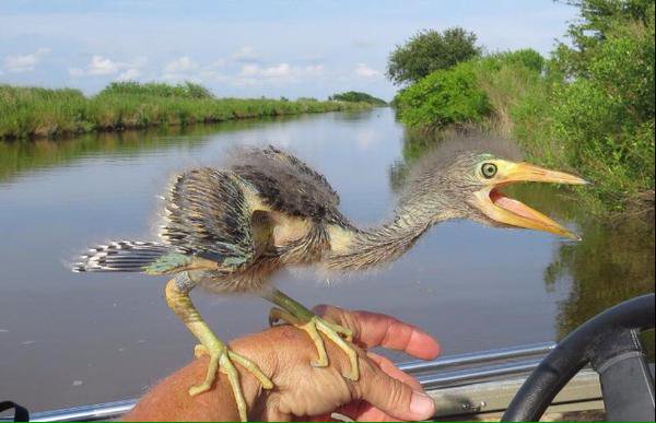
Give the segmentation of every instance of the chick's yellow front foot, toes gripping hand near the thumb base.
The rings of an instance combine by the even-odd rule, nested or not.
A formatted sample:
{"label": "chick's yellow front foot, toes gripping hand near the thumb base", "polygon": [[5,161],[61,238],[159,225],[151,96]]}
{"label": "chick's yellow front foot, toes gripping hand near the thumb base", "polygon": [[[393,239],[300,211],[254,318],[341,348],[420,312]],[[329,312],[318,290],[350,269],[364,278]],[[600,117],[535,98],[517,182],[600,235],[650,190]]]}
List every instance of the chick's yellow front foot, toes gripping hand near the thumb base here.
{"label": "chick's yellow front foot, toes gripping hand near the thumb base", "polygon": [[[349,357],[351,369],[344,377],[351,380],[358,380],[360,378],[360,368],[358,365],[358,353],[348,342],[353,340],[353,332],[340,325],[331,324],[319,316],[313,316],[309,320],[303,321],[302,319],[293,316],[291,313],[285,312],[281,308],[272,308],[269,313],[269,325],[274,326],[279,321],[285,321],[303,331],[305,331],[309,339],[313,341],[317,349],[318,359],[313,361],[311,364],[314,367],[326,367],[328,366],[328,353],[326,352],[326,345],[324,339],[319,333],[324,333],[326,338],[331,340],[337,346],[339,346]],[[348,341],[348,342],[347,342]]]}

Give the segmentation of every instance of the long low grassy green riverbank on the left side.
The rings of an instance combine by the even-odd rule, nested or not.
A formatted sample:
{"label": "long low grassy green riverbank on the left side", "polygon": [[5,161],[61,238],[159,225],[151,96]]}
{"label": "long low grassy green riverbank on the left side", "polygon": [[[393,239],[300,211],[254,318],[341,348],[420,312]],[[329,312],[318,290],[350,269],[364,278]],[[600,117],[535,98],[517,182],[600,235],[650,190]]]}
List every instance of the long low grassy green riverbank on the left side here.
{"label": "long low grassy green riverbank on the left side", "polygon": [[113,83],[91,97],[72,89],[0,85],[0,139],[58,138],[371,107],[368,103],[314,98],[216,98],[192,83],[176,86]]}

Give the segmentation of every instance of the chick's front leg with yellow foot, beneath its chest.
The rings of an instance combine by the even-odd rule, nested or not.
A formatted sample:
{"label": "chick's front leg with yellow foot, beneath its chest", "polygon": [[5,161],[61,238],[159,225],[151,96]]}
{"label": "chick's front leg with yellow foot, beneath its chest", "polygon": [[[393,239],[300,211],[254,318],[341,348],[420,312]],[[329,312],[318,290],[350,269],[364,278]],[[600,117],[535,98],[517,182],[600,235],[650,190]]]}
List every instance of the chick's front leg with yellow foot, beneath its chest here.
{"label": "chick's front leg with yellow foot, beneath its chest", "polygon": [[[315,367],[326,367],[328,365],[328,354],[324,339],[319,333],[324,333],[326,338],[335,342],[349,357],[351,371],[344,375],[351,380],[360,378],[360,368],[358,366],[358,354],[352,345],[347,341],[352,341],[353,333],[351,330],[327,321],[326,319],[315,315],[300,303],[290,298],[279,290],[272,290],[262,294],[262,296],[276,304],[269,314],[269,325],[273,326],[277,321],[283,320],[296,328],[304,330],[309,336],[317,349],[318,359],[312,362]],[[345,339],[345,340],[344,340]]]}

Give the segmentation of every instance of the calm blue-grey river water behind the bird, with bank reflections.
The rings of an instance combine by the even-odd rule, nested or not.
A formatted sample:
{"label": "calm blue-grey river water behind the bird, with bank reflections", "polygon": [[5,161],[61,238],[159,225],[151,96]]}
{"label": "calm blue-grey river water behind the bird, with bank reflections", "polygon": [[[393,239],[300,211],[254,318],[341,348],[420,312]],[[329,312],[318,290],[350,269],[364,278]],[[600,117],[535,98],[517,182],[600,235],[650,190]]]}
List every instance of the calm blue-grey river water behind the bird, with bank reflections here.
{"label": "calm blue-grey river water behind the bird, with bank reflections", "polygon": [[[212,165],[234,144],[271,143],[323,172],[353,221],[376,224],[412,142],[390,109],[374,109],[0,143],[0,399],[43,410],[137,397],[190,360],[195,340],[166,307],[165,278],[67,269],[90,244],[152,239],[173,173]],[[306,305],[413,322],[447,354],[554,340],[654,291],[653,216],[608,226],[571,193],[527,186],[517,196],[584,240],[449,222],[388,269],[330,281],[285,272],[277,283]],[[224,339],[266,326],[262,299],[194,297]]]}

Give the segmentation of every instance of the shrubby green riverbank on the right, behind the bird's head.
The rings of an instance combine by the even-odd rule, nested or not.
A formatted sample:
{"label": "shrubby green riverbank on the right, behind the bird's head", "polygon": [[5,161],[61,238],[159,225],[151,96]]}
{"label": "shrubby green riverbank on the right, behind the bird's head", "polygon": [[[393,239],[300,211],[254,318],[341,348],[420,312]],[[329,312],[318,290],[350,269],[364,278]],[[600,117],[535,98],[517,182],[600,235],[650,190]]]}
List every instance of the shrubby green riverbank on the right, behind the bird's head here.
{"label": "shrubby green riverbank on the right, behind the bird's head", "polygon": [[420,144],[468,127],[512,138],[531,162],[590,180],[577,195],[597,214],[653,211],[653,66],[633,91],[618,78],[570,82],[553,66],[529,49],[461,62],[402,90],[397,115]]}

